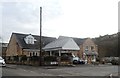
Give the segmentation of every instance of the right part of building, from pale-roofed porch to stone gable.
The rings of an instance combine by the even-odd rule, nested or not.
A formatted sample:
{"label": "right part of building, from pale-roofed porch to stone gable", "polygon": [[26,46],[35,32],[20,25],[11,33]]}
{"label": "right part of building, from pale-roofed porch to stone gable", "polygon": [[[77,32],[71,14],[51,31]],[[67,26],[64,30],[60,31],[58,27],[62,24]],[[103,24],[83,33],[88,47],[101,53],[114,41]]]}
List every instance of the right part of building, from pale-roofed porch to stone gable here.
{"label": "right part of building, from pale-roofed porch to stone gable", "polygon": [[96,58],[98,57],[98,47],[90,38],[81,39],[60,36],[57,40],[47,44],[44,50],[49,52],[49,55],[56,54],[57,56],[61,56],[65,53],[72,54],[80,57],[87,63],[96,62]]}

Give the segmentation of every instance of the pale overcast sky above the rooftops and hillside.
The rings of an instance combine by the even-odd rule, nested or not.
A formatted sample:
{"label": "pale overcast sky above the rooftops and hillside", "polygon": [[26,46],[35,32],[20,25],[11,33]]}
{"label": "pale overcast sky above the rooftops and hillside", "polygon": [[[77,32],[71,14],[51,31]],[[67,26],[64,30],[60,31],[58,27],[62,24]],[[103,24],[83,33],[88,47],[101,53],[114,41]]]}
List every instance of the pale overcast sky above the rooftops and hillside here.
{"label": "pale overcast sky above the rooftops and hillside", "polygon": [[0,36],[8,42],[12,32],[78,38],[118,32],[119,0],[1,0]]}

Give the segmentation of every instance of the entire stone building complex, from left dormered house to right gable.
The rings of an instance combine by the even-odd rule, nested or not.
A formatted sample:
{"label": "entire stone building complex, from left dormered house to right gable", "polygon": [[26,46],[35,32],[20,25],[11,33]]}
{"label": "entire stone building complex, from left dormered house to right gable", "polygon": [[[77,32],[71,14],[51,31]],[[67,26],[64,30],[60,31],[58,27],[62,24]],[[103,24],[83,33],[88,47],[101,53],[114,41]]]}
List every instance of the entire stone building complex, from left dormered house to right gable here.
{"label": "entire stone building complex, from left dormered house to right gable", "polygon": [[[96,61],[98,56],[98,47],[90,38],[72,38],[60,36],[54,37],[42,36],[42,56],[61,56],[71,54],[86,60],[88,63]],[[39,59],[40,53],[40,36],[32,34],[12,33],[6,50],[6,59],[8,62],[21,62],[21,59],[31,57]],[[35,58],[34,58],[35,59]],[[38,60],[37,60],[38,61]]]}

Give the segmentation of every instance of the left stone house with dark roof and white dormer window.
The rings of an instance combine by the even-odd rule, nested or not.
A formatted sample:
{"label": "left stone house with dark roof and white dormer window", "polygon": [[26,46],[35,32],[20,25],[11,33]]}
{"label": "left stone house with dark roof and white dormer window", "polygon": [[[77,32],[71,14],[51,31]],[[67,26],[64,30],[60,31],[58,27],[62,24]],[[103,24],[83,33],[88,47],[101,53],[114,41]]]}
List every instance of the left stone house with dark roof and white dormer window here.
{"label": "left stone house with dark roof and white dormer window", "polygon": [[[42,47],[56,40],[54,37],[42,36]],[[38,57],[40,53],[40,36],[32,34],[12,33],[7,50],[6,59],[19,61],[21,59],[30,60],[30,57]],[[43,53],[44,55],[44,53]],[[22,58],[23,57],[23,58]]]}

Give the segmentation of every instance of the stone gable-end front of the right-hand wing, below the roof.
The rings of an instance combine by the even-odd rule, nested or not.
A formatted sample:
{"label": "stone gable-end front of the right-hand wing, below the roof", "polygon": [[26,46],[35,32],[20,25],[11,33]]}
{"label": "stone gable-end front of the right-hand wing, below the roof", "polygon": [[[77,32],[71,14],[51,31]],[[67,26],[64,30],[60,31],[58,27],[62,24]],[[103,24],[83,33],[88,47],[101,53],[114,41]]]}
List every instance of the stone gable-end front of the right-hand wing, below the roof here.
{"label": "stone gable-end front of the right-hand wing, below the roof", "polygon": [[92,39],[86,39],[82,45],[80,45],[79,56],[87,61],[87,63],[96,62],[98,57],[98,46]]}

